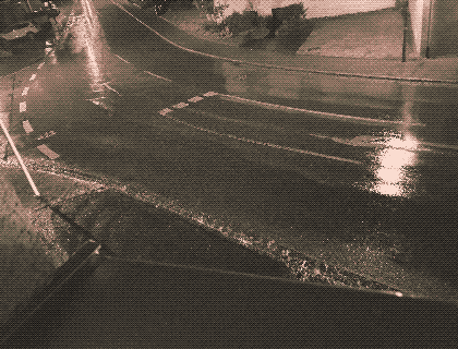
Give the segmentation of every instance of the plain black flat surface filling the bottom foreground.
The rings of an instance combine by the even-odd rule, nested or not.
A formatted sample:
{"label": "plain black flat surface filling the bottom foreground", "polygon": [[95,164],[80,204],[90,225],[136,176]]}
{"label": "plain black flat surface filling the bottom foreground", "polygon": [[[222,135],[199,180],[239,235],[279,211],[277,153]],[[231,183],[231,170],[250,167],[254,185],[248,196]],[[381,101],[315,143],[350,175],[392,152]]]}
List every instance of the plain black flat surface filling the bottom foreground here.
{"label": "plain black flat surface filling the bottom foreground", "polygon": [[112,260],[91,269],[8,345],[456,347],[456,306],[447,303],[160,263]]}

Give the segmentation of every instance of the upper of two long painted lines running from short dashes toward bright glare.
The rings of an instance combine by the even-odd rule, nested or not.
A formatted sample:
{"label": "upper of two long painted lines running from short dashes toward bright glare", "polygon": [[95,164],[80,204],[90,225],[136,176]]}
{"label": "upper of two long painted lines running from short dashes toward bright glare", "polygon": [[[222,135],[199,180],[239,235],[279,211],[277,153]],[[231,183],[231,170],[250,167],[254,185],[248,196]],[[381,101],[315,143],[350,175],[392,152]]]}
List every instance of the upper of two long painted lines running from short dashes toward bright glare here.
{"label": "upper of two long painted lines running from short dashes toward bright glare", "polygon": [[[293,108],[293,107],[274,105],[274,104],[270,104],[270,103],[246,99],[246,98],[242,98],[242,97],[238,97],[238,96],[231,96],[231,95],[222,95],[222,94],[218,94],[218,95],[224,100],[236,101],[236,103],[245,103],[245,104],[249,104],[249,105],[254,105],[254,106],[258,106],[258,107],[263,107],[263,108],[267,108],[267,109],[273,109],[273,110],[281,110],[281,111],[286,111],[286,112],[311,113],[313,116],[317,116],[317,117],[321,117],[321,118],[340,120],[340,121],[346,121],[346,122],[362,122],[362,123],[370,123],[370,124],[406,124],[403,121],[378,120],[378,119],[372,119],[372,118],[360,118],[360,117],[352,117],[352,116],[339,115],[339,113],[334,113],[334,112],[308,110],[308,109],[302,109],[302,108]],[[409,123],[409,125],[410,127],[422,127],[422,128],[425,127],[424,123]]]}

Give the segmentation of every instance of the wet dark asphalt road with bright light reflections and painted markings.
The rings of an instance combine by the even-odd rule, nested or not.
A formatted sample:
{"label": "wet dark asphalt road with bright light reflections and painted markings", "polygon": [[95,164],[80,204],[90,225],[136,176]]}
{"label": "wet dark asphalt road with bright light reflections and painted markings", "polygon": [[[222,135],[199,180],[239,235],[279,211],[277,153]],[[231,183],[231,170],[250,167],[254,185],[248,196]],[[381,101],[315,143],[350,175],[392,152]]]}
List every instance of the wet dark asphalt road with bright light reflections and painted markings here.
{"label": "wet dark asphalt road with bright light reflections and painted markings", "polygon": [[[150,10],[121,4],[167,36]],[[160,194],[208,225],[455,292],[458,86],[236,65],[165,43],[109,0],[68,5],[67,38],[14,74],[24,155],[43,157],[33,136],[46,137],[55,166]]]}

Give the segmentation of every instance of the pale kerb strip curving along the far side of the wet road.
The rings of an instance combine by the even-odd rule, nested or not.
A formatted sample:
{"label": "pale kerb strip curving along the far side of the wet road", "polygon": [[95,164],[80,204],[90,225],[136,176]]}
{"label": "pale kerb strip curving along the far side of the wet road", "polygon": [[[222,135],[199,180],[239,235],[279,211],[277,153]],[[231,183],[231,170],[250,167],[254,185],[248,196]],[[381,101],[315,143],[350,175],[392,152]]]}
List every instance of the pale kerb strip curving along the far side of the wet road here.
{"label": "pale kerb strip curving along the far side of the wet road", "polygon": [[[165,39],[174,47],[237,64],[254,65],[267,69],[279,69],[290,71],[302,71],[309,74],[321,74],[321,75],[334,75],[343,77],[358,77],[358,79],[371,79],[371,80],[393,80],[393,81],[405,81],[412,83],[437,83],[437,84],[458,84],[458,80],[455,79],[432,79],[426,77],[427,71],[422,69],[424,60],[418,59],[408,62],[397,62],[389,60],[378,59],[364,59],[364,58],[342,58],[342,57],[322,57],[322,56],[286,56],[279,52],[257,52],[248,51],[239,47],[227,46],[224,44],[212,43],[203,39],[198,39],[194,36],[189,35],[184,31],[177,27],[172,22],[160,17],[164,22],[177,28],[177,33],[167,31],[167,37],[160,34],[155,28],[152,28],[146,23],[136,19],[128,10],[118,5],[121,10],[125,11],[136,21],[148,27],[150,31],[156,33],[159,37]],[[202,50],[202,43],[205,41],[205,49],[207,52]],[[224,46],[224,48],[221,48]],[[201,48],[200,48],[201,47]],[[221,55],[222,51],[226,55]],[[282,63],[280,63],[282,62]],[[458,59],[457,59],[458,62]],[[438,65],[435,61],[426,64],[429,67]],[[308,67],[320,67],[320,68],[308,68]],[[337,67],[332,69],[332,67]],[[345,68],[345,70],[342,69]],[[441,70],[441,67],[436,67]],[[358,71],[378,71],[377,73],[362,73]],[[415,73],[417,72],[417,73]],[[426,76],[425,76],[426,75]],[[450,75],[450,74],[448,74]]]}

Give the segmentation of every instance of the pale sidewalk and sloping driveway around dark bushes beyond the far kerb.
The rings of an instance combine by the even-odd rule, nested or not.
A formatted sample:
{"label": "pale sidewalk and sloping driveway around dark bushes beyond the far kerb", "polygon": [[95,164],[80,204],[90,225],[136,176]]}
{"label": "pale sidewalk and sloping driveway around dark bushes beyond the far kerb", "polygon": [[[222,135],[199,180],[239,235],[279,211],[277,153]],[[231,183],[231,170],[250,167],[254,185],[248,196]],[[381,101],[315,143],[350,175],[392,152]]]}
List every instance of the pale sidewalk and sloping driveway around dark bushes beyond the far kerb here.
{"label": "pale sidewalk and sloping driveway around dark bushes beyond the far kerb", "polygon": [[208,56],[238,63],[303,70],[330,75],[458,83],[458,58],[415,58],[412,34],[407,35],[407,62],[401,62],[402,20],[394,9],[316,19],[313,33],[297,51],[288,51],[277,38],[241,47],[238,36],[204,29],[200,10],[172,5],[162,16],[177,31],[159,28],[170,41]]}

